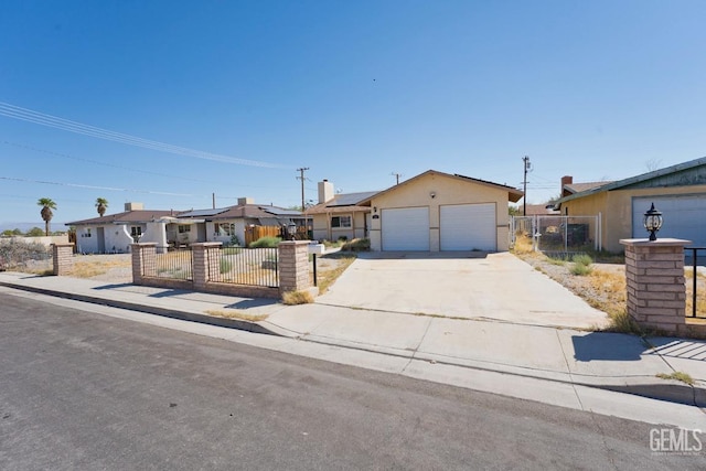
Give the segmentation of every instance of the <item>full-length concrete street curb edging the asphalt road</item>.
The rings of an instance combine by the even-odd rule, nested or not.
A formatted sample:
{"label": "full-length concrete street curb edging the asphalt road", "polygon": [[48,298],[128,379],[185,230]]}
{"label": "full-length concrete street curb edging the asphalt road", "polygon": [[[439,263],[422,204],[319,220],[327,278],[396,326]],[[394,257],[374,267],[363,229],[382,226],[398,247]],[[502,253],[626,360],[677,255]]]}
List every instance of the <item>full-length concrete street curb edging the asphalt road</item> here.
{"label": "full-length concrete street curb edging the asphalt road", "polygon": [[[439,363],[448,366],[462,367],[466,370],[477,370],[477,371],[506,374],[506,375],[513,375],[513,376],[520,376],[520,377],[530,377],[530,378],[543,379],[543,381],[559,383],[559,384],[571,384],[576,386],[585,386],[585,387],[591,387],[596,389],[611,390],[614,393],[631,394],[631,395],[646,397],[646,398],[656,399],[656,400],[664,400],[670,403],[683,404],[687,406],[695,406],[698,408],[706,408],[706,387],[691,386],[675,379],[657,379],[655,377],[655,381],[653,382],[652,378],[649,378],[648,381],[648,378],[643,377],[642,381],[630,382],[627,378],[621,379],[621,378],[613,377],[611,378],[612,383],[601,384],[597,382],[576,381],[576,378],[573,378],[573,379],[553,378],[553,377],[542,376],[536,374],[533,375],[528,373],[525,374],[520,372],[513,372],[513,371],[509,371],[510,368],[503,370],[498,367],[485,367],[482,365],[469,365],[460,362],[441,360],[437,355],[428,356],[426,354],[419,354],[415,352],[402,352],[402,351],[396,352],[393,349],[376,347],[374,345],[371,345],[371,346],[363,345],[363,344],[356,345],[356,344],[353,344],[352,342],[345,342],[345,341],[335,342],[333,340],[328,340],[328,339],[323,340],[323,339],[308,338],[308,335],[302,335],[295,331],[290,331],[285,328],[280,328],[276,324],[271,324],[269,321],[263,321],[263,322],[270,323],[272,328],[266,328],[257,322],[248,322],[248,321],[243,321],[238,319],[222,319],[222,318],[216,318],[216,317],[206,315],[206,314],[199,314],[194,312],[174,311],[171,309],[157,308],[157,307],[145,306],[145,304],[139,304],[135,302],[118,301],[113,299],[105,299],[105,298],[98,298],[98,297],[86,296],[86,295],[77,295],[77,293],[51,290],[45,288],[14,285],[6,281],[0,281],[0,286],[19,289],[23,291],[29,291],[29,292],[36,292],[40,295],[53,296],[56,298],[71,299],[71,300],[83,301],[83,302],[88,302],[93,304],[108,306],[111,308],[145,312],[148,314],[156,314],[156,315],[161,315],[161,317],[171,318],[171,319],[179,319],[183,321],[197,322],[197,323],[222,327],[227,329],[236,329],[240,331],[267,334],[272,336],[297,339],[297,340],[322,344],[322,345],[338,346],[341,349],[364,351],[364,352],[371,352],[371,353],[389,355],[389,356],[398,356],[398,357],[405,357],[405,358],[421,361],[421,362],[434,362],[434,363]],[[287,332],[284,332],[284,331],[287,331]],[[571,376],[568,373],[567,375]]]}

